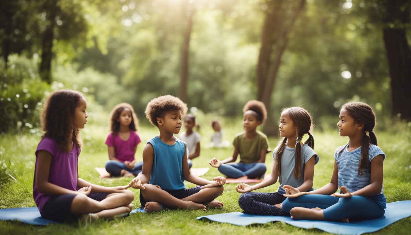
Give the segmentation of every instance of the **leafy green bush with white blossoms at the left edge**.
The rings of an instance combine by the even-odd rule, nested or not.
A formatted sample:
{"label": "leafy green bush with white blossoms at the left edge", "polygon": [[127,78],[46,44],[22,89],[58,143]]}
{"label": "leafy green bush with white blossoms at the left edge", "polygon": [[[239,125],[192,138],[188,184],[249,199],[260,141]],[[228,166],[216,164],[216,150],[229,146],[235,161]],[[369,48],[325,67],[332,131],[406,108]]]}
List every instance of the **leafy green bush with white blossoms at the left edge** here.
{"label": "leafy green bush with white blossoms at the left edge", "polygon": [[49,86],[37,73],[35,62],[10,56],[9,67],[0,60],[0,133],[39,127],[39,110]]}

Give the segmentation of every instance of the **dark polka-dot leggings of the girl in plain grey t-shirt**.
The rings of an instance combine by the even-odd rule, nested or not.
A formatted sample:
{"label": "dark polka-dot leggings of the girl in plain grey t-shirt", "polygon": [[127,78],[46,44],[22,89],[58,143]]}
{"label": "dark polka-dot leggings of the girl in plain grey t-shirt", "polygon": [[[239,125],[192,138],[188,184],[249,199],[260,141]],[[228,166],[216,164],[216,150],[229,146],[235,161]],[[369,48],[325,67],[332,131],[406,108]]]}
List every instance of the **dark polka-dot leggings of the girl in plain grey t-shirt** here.
{"label": "dark polka-dot leggings of the girl in plain grey t-shirt", "polygon": [[274,206],[282,203],[286,198],[275,193],[242,193],[238,198],[238,205],[247,214],[286,216],[288,213]]}

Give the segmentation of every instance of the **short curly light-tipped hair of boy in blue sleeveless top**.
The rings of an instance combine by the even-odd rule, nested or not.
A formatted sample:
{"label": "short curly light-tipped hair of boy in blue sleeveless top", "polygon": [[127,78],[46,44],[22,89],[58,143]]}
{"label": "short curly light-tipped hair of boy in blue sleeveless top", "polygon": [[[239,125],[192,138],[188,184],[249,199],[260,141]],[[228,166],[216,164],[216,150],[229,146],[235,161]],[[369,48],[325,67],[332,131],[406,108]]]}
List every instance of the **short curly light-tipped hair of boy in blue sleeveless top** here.
{"label": "short curly light-tipped hair of boy in blue sleeveless top", "polygon": [[158,127],[157,117],[164,117],[164,113],[170,110],[178,110],[181,118],[187,114],[187,104],[173,95],[162,95],[148,102],[145,108],[145,116],[153,126]]}

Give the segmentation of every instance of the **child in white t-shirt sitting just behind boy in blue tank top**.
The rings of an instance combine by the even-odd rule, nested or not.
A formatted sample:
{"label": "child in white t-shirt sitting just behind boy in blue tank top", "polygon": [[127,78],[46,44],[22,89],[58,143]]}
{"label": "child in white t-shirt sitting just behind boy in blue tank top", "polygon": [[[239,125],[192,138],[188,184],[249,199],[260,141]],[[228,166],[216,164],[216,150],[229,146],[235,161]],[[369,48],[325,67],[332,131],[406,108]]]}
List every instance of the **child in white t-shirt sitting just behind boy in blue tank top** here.
{"label": "child in white t-shirt sitting just behind boy in blue tank top", "polygon": [[201,136],[198,132],[193,131],[196,126],[196,117],[188,114],[184,118],[185,132],[181,133],[178,137],[180,140],[187,144],[188,148],[188,167],[193,165],[191,160],[200,156],[200,139]]}

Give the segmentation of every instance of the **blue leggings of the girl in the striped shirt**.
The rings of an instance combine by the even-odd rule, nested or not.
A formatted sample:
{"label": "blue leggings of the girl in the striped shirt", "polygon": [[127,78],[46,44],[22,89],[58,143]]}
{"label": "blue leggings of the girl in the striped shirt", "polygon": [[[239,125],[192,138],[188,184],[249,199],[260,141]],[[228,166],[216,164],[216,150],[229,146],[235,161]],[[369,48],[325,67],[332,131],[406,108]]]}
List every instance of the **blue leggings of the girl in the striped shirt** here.
{"label": "blue leggings of the girl in the striped shirt", "polygon": [[302,195],[298,198],[287,198],[282,204],[284,212],[289,213],[293,207],[323,209],[324,220],[339,221],[349,218],[355,220],[376,219],[384,215],[377,202],[365,196],[337,198],[331,195]]}

